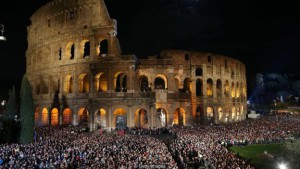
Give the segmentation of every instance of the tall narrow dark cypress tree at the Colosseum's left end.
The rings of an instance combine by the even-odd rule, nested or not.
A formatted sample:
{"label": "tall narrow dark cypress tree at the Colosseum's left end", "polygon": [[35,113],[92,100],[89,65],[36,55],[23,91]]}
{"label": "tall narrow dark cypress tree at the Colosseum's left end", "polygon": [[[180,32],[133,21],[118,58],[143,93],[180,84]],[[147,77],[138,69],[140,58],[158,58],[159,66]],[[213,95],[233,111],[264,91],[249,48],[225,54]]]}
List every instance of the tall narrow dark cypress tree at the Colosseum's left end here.
{"label": "tall narrow dark cypress tree at the Colosseum's left end", "polygon": [[23,144],[28,144],[33,141],[34,135],[34,102],[31,87],[26,75],[24,75],[22,78],[20,94],[20,142]]}

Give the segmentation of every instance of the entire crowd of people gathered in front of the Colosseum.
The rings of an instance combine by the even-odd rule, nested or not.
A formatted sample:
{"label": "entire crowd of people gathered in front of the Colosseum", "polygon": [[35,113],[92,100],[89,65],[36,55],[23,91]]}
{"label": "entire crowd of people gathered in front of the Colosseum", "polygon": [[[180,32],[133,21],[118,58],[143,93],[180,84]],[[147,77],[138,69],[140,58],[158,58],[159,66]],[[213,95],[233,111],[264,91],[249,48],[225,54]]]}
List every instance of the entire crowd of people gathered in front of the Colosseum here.
{"label": "entire crowd of people gathered in front of the Colosseum", "polygon": [[[252,169],[226,145],[285,141],[299,134],[299,124],[299,117],[268,116],[227,125],[131,128],[123,134],[82,132],[82,126],[41,127],[31,144],[0,145],[0,169]],[[169,144],[152,137],[164,134],[173,135]]]}

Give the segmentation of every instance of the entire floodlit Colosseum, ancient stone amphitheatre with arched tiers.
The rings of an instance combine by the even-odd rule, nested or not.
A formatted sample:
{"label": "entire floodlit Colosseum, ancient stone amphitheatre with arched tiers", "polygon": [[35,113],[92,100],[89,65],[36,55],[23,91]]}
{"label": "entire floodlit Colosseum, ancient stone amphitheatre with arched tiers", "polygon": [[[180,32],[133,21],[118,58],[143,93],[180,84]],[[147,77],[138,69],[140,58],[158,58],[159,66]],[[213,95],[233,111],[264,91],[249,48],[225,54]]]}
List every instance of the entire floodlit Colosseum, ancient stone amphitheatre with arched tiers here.
{"label": "entire floodlit Colosseum, ancient stone amphitheatre with arched tiers", "polygon": [[123,55],[103,0],[53,0],[27,28],[35,125],[90,130],[232,123],[246,118],[246,68],[219,54]]}

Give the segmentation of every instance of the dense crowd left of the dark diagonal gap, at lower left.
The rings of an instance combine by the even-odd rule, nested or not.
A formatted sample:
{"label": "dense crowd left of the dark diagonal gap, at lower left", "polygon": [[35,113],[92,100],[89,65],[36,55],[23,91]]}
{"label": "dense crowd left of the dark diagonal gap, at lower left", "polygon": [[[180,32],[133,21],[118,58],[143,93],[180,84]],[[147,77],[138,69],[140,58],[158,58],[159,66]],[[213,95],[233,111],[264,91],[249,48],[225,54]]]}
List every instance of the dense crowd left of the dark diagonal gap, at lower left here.
{"label": "dense crowd left of the dark diagonal gap, at lower left", "polygon": [[39,128],[36,142],[0,146],[0,168],[177,168],[159,140],[137,135],[100,135],[81,127]]}

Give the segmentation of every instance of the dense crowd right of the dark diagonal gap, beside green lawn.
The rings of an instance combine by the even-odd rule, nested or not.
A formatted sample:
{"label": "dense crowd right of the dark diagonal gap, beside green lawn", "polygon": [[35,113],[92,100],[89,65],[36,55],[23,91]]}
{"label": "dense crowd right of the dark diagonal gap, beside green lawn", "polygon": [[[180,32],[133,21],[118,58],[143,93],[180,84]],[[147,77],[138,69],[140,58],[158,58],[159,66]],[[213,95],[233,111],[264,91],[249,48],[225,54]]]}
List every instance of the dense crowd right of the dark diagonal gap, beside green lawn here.
{"label": "dense crowd right of the dark diagonal gap, beside green lawn", "polygon": [[[229,144],[282,142],[300,132],[297,116],[266,116],[230,125],[174,127],[177,137],[169,150],[182,168],[253,168],[228,151]],[[227,146],[226,146],[227,145]]]}

